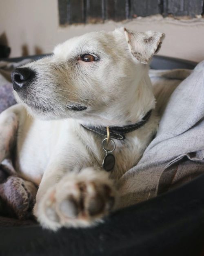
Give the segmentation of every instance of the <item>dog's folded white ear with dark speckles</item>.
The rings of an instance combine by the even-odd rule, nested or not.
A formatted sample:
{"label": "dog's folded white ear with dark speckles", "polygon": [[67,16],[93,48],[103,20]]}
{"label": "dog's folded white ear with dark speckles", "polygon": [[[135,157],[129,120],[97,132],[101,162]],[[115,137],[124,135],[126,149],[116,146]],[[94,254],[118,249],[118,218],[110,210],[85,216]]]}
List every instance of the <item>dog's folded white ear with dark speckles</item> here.
{"label": "dog's folded white ear with dark speckles", "polygon": [[157,53],[165,37],[164,33],[155,31],[136,32],[124,28],[126,41],[133,56],[140,62],[147,64],[153,54]]}

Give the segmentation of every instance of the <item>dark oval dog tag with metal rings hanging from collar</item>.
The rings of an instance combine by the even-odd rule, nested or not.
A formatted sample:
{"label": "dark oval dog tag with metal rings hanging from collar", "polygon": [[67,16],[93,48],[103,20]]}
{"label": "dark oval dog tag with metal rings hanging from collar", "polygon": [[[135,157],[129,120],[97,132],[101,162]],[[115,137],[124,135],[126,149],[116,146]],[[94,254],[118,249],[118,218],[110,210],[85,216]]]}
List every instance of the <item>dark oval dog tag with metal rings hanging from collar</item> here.
{"label": "dark oval dog tag with metal rings hanging from collar", "polygon": [[104,138],[104,140],[102,141],[103,150],[106,152],[106,155],[104,156],[102,165],[103,165],[104,170],[106,170],[107,172],[110,172],[111,170],[113,170],[113,168],[115,166],[115,156],[113,156],[113,154],[111,154],[115,150],[115,142],[112,139],[109,140],[109,142],[111,142],[111,144],[112,144],[112,150],[108,150],[104,145],[106,141],[108,141],[107,138]]}

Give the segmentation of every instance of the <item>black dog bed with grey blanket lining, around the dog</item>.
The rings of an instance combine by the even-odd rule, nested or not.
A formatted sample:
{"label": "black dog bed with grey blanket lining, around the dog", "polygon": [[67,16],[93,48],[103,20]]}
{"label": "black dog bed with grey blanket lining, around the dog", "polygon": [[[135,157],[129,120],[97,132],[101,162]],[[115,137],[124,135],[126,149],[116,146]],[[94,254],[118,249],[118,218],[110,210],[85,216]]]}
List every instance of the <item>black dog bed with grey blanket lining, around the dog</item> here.
{"label": "black dog bed with grey blanket lining, around the dog", "polygon": [[[22,59],[10,61],[16,62]],[[200,63],[178,86],[165,108],[162,108],[164,104],[159,106],[158,110],[163,113],[163,117],[156,138],[149,145],[138,165],[129,170],[120,181],[123,194],[121,207],[127,203],[144,201],[155,195],[157,197],[121,209],[106,218],[104,224],[89,229],[61,229],[53,233],[43,230],[32,220],[20,221],[2,217],[0,255],[201,255],[204,249],[204,174],[202,174],[204,171],[202,104],[204,102],[202,101],[203,81],[199,83],[198,80],[199,77],[203,79],[203,66],[204,64]],[[175,81],[174,86],[170,88],[171,94],[185,78],[184,72],[180,74],[179,70],[174,70],[162,75],[162,71],[156,69],[193,69],[194,67],[195,63],[192,62],[157,56],[151,63],[151,68],[155,70],[150,72],[150,76],[155,88],[158,83],[164,82],[162,79],[165,76],[169,79],[175,79],[176,76],[177,82]],[[12,67],[7,66],[7,68]],[[159,76],[157,72],[160,72]],[[186,76],[190,73],[188,72]],[[182,102],[187,100],[183,97],[186,90],[188,95],[191,95],[188,97],[188,112],[184,108],[185,102]],[[3,110],[14,102],[8,85],[4,86],[4,91],[0,93],[0,97],[4,93],[4,99],[5,96],[10,95],[9,101],[3,103]],[[165,98],[163,96],[157,95],[162,99]],[[197,99],[192,100],[195,96]],[[177,102],[180,104],[180,110],[176,105]],[[180,126],[175,126],[175,119],[180,120]],[[180,130],[180,127],[184,129]],[[189,148],[188,143],[191,144],[192,134],[198,138],[197,144],[191,145],[193,150],[186,153],[186,148]],[[183,144],[181,148],[178,143],[182,140],[186,141],[184,143],[186,148]],[[174,145],[176,147],[168,155],[169,158],[164,158],[162,154],[164,152],[167,154],[169,142],[171,147]],[[155,152],[157,145],[160,147],[157,147],[159,150]],[[161,157],[158,159],[158,156]],[[146,170],[149,170],[149,174],[148,179],[145,180]],[[155,177],[159,181],[157,186],[155,186]],[[142,189],[140,186],[137,188],[134,186],[135,181],[138,184],[138,180],[142,181],[139,184]],[[7,179],[3,179],[1,184],[5,181]],[[181,185],[187,181],[187,184]],[[12,227],[22,224],[25,226]]]}

